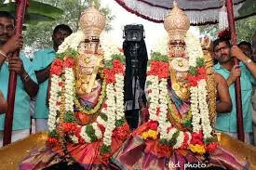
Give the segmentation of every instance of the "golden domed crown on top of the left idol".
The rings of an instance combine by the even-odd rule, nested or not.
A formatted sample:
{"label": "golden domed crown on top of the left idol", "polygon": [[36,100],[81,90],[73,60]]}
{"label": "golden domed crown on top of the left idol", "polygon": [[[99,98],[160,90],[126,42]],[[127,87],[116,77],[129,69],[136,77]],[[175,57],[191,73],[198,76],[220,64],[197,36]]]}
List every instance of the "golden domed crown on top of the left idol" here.
{"label": "golden domed crown on top of the left idol", "polygon": [[94,3],[85,10],[80,18],[80,27],[86,38],[100,38],[106,25],[105,16],[95,7]]}

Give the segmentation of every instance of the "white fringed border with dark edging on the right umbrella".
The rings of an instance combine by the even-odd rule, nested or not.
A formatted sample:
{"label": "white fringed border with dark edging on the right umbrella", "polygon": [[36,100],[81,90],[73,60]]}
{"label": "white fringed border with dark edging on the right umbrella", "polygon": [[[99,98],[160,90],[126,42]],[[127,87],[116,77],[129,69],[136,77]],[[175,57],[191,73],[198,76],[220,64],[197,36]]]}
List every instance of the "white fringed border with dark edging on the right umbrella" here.
{"label": "white fringed border with dark edging on the right umbrella", "polygon": [[[195,1],[195,0],[186,0]],[[156,23],[164,21],[165,16],[168,14],[169,9],[157,6],[155,4],[149,4],[145,0],[115,0],[121,7],[124,7],[128,12],[137,15],[145,20],[150,20]],[[155,1],[155,2],[159,2]],[[198,0],[197,0],[198,2]],[[255,15],[255,13],[249,14],[247,16],[238,17],[238,9],[242,7],[243,1],[239,1],[234,5],[236,20],[244,19],[249,16]],[[219,20],[219,9],[208,7],[204,10],[196,9],[186,9],[185,13],[190,18],[191,25],[205,25],[218,23]]]}

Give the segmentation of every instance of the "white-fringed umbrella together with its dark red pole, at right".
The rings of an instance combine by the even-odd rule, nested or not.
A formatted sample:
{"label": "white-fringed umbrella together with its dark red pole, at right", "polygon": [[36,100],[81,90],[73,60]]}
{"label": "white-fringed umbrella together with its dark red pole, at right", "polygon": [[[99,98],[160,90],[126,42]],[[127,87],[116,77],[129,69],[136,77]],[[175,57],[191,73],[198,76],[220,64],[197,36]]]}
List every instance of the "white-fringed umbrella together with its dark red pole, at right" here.
{"label": "white-fringed umbrella together with its dark red pole, at right", "polygon": [[[128,12],[154,22],[163,22],[168,10],[172,8],[174,0],[115,0]],[[191,25],[204,25],[219,21],[220,9],[226,4],[228,26],[231,32],[231,41],[236,45],[235,20],[256,15],[255,0],[176,0],[179,7],[190,18]],[[222,10],[221,10],[222,11]],[[220,22],[225,22],[220,18]],[[235,59],[235,64],[238,60]],[[236,79],[236,117],[238,139],[244,141],[243,114],[241,101],[240,79]]]}

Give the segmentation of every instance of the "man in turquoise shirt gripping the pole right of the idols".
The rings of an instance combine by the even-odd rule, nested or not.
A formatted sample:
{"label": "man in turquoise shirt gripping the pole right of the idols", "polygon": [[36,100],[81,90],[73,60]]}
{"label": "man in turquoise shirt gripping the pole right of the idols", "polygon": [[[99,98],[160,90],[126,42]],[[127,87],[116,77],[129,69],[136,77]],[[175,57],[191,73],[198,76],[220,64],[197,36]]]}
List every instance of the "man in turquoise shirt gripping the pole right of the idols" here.
{"label": "man in turquoise shirt gripping the pole right of the idols", "polygon": [[[237,137],[235,81],[240,76],[245,142],[250,143],[249,135],[252,132],[250,98],[252,85],[256,85],[256,63],[249,59],[239,47],[231,46],[224,38],[215,40],[213,46],[214,58],[218,60],[214,69],[225,78],[233,103],[231,112],[218,113],[216,129]],[[235,65],[234,58],[240,60],[239,66]]]}

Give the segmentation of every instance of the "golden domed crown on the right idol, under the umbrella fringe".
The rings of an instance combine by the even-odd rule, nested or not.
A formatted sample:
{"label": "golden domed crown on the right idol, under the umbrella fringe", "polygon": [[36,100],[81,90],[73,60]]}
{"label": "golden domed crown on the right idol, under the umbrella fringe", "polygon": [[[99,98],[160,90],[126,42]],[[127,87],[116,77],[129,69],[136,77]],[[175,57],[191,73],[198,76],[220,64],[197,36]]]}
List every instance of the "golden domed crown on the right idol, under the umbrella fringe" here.
{"label": "golden domed crown on the right idol, under the umbrella fringe", "polygon": [[164,20],[164,26],[168,32],[169,41],[183,41],[189,29],[189,25],[189,18],[174,1],[173,8]]}

